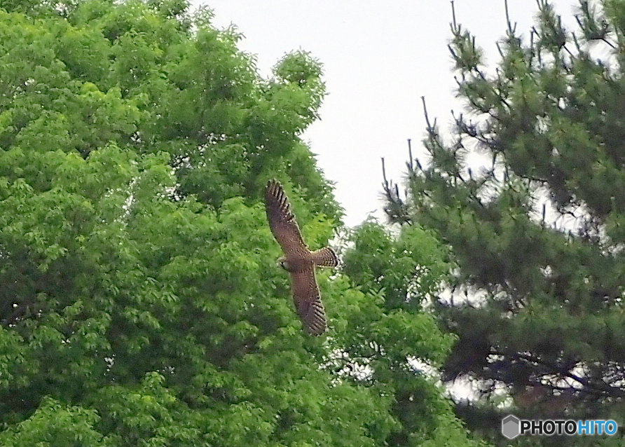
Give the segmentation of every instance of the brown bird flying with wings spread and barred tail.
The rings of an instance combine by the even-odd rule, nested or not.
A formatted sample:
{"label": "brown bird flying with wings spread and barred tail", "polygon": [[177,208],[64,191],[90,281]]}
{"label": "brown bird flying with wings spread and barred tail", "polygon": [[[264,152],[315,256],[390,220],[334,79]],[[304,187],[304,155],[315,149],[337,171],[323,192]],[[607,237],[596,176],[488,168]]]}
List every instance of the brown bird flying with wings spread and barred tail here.
{"label": "brown bird flying with wings spread and barred tail", "polygon": [[327,320],[315,266],[338,266],[336,253],[330,247],[316,252],[308,249],[291,212],[289,198],[278,181],[270,180],[265,188],[265,208],[271,233],[284,252],[278,262],[291,273],[291,290],[299,317],[306,331],[318,336],[325,331]]}

